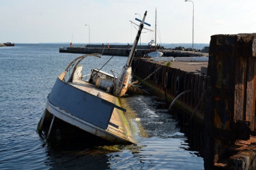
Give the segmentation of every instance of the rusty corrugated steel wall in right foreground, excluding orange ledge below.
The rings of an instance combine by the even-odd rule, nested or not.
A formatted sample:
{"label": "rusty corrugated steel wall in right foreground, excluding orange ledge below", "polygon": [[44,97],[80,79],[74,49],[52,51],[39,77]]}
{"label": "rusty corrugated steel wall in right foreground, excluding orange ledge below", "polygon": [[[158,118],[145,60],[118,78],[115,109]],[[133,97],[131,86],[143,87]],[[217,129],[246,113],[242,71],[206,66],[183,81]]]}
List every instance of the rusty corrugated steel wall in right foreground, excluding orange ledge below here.
{"label": "rusty corrugated steel wall in right foreground, excluding orange ledge below", "polygon": [[[236,123],[255,126],[256,34],[213,35],[210,41],[208,76],[212,80],[206,114],[212,114],[214,163],[227,156],[227,148],[248,129]],[[210,116],[209,116],[210,117]]]}

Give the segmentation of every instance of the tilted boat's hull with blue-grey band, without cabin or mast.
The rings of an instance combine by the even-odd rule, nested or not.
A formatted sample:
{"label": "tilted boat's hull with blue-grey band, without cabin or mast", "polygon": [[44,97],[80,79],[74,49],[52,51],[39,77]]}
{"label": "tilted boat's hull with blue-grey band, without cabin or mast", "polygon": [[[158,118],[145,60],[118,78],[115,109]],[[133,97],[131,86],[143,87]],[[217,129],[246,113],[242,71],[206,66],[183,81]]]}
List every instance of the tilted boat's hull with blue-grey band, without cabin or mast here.
{"label": "tilted boat's hull with blue-grey band, without cabin or mast", "polygon": [[109,143],[134,143],[123,115],[126,110],[116,105],[116,100],[85,81],[66,83],[58,78],[48,95],[38,131],[51,137],[54,118],[58,118]]}

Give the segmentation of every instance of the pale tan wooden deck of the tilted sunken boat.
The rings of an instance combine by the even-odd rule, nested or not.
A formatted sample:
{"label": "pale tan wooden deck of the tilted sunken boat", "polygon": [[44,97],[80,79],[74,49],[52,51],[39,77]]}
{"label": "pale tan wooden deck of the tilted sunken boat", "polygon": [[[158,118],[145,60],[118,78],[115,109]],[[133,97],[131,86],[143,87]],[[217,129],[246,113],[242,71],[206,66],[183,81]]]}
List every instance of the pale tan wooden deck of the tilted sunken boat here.
{"label": "pale tan wooden deck of the tilted sunken boat", "polygon": [[[84,80],[74,80],[73,82],[69,83],[70,85],[79,88],[80,90],[83,90],[85,92],[89,92],[91,95],[98,96],[106,101],[109,101],[119,107],[119,99],[108,92],[105,92],[104,90],[100,90],[94,86],[94,84],[89,84],[88,82],[85,82]],[[128,122],[126,122],[126,118],[124,117],[124,114],[121,110],[114,108],[113,114],[111,116],[109,126],[106,129],[109,133],[115,134],[118,137],[121,137],[122,139],[128,140],[132,143],[134,143],[130,127],[128,125]]]}

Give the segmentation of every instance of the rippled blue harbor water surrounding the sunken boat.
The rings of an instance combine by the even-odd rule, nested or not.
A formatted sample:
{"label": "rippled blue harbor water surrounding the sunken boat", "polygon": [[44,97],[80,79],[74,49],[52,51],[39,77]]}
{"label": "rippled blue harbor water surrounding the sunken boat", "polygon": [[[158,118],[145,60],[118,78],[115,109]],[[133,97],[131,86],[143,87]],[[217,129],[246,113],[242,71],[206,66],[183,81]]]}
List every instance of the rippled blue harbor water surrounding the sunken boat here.
{"label": "rippled blue harbor water surrounding the sunken boat", "polygon": [[[81,54],[61,54],[56,44],[16,44],[0,48],[0,169],[203,169],[177,122],[154,97],[122,99],[134,137],[132,146],[57,146],[36,128],[57,75]],[[111,56],[88,57],[85,71]],[[126,57],[115,56],[102,70],[121,71]],[[89,72],[88,72],[89,73]]]}

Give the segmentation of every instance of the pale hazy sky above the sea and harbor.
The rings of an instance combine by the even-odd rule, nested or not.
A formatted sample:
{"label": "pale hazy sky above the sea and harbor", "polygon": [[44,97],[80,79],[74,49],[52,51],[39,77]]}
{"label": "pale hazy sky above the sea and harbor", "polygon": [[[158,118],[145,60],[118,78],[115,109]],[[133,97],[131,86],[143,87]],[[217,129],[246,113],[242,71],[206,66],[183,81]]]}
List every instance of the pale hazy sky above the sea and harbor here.
{"label": "pale hazy sky above the sea and harbor", "polygon": [[[211,35],[256,33],[255,0],[193,0],[194,43]],[[132,43],[143,18],[157,43],[193,41],[193,3],[184,0],[0,0],[0,43]],[[85,24],[89,26],[85,26]],[[136,27],[136,28],[135,28]],[[141,43],[154,39],[144,30]]]}

